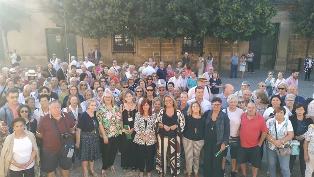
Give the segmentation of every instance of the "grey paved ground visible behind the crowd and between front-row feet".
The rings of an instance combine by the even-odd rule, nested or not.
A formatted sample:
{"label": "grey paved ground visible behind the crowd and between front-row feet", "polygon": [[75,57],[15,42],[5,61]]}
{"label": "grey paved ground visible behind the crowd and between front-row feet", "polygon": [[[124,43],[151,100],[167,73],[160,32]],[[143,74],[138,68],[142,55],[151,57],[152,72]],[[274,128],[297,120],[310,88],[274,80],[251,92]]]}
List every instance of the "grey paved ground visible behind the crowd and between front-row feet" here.
{"label": "grey paved ground visible behind the crowd and between front-row feet", "polygon": [[[220,79],[222,80],[223,84],[227,84],[230,83],[235,87],[235,91],[239,90],[241,87],[241,83],[243,81],[249,81],[251,83],[251,90],[255,90],[258,88],[258,83],[261,81],[265,81],[266,77],[267,77],[267,70],[256,70],[255,74],[249,74],[249,73],[245,73],[244,74],[244,79],[230,79],[230,73],[228,71],[219,71],[219,76]],[[275,71],[275,73],[277,73],[278,71]],[[284,71],[285,72],[285,78],[288,78],[290,76],[290,71]],[[237,77],[239,77],[239,73],[237,75]],[[275,76],[277,76],[277,74],[275,74]],[[305,99],[312,97],[313,92],[314,92],[314,87],[313,87],[313,82],[312,81],[304,81],[304,77],[305,74],[304,72],[300,72],[299,74],[299,92],[298,94],[300,96],[303,96]],[[313,76],[312,76],[313,77]],[[277,77],[276,77],[277,78]],[[314,81],[314,79],[313,79]],[[220,90],[220,92],[222,91],[222,89]],[[265,149],[265,148],[264,148]],[[227,156],[228,159],[230,159],[230,154],[228,153]],[[297,157],[298,159],[298,157]],[[120,156],[117,155],[116,156],[116,160],[114,163],[115,169],[116,169],[116,173],[111,174],[109,171],[107,171],[107,177],[135,177],[138,173],[137,172],[132,172],[131,170],[128,170],[127,172],[124,172],[123,169],[120,167]],[[182,160],[182,163],[184,163],[184,160]],[[262,159],[262,168],[259,170],[258,173],[258,177],[266,177],[266,172],[267,172],[267,157],[266,157],[266,152],[264,152],[264,156]],[[183,164],[182,164],[183,167]],[[101,168],[102,168],[102,161],[101,158],[99,160],[97,160],[95,162],[95,170],[97,171],[97,173],[99,173],[99,175],[101,174]],[[230,169],[231,166],[230,165],[226,165],[226,175],[228,175],[230,173]],[[300,177],[300,172],[299,172],[299,161],[296,160],[295,165],[294,165],[294,169],[292,171],[292,176],[291,177]],[[249,173],[249,177],[252,177],[250,170],[248,169],[248,173]],[[80,168],[80,164],[79,161],[76,160],[75,163],[75,168],[73,171],[70,172],[70,177],[79,177],[82,174],[82,170]],[[203,170],[202,168],[200,169],[200,177],[203,177]],[[180,174],[181,177],[184,176],[183,174],[183,170],[182,173]],[[236,174],[237,177],[242,177],[241,173],[237,173]],[[144,176],[146,177],[146,176]],[[153,172],[153,177],[157,177],[157,173],[156,171]],[[168,175],[169,176],[169,172]],[[281,177],[281,174],[277,174],[277,177]]]}

